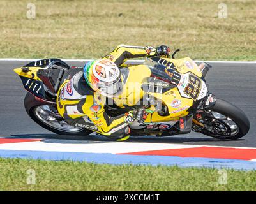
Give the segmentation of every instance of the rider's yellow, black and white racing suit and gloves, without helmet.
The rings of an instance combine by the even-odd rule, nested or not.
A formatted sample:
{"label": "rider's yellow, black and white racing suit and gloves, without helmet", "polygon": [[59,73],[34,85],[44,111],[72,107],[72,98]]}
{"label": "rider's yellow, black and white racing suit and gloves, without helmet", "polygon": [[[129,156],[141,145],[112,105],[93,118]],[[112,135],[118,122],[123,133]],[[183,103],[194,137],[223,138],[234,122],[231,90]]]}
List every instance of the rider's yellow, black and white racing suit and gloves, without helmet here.
{"label": "rider's yellow, black and white racing suit and gloves, without helmet", "polygon": [[[119,45],[102,59],[108,59],[117,66],[124,66],[127,59],[155,55],[166,56],[169,52],[169,47],[165,45],[156,48]],[[69,124],[91,129],[110,138],[123,138],[128,135],[130,133],[128,124],[134,121],[135,115],[138,114],[129,112],[110,117],[104,105],[105,97],[91,89],[82,71],[63,82],[57,94],[57,110]]]}

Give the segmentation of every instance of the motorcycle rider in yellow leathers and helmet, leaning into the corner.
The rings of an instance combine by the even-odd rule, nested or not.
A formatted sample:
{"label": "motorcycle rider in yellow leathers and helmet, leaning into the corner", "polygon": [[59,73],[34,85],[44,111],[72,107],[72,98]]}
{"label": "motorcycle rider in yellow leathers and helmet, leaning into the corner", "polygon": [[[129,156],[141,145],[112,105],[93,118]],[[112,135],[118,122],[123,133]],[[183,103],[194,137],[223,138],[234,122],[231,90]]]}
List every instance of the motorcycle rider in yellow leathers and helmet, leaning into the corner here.
{"label": "motorcycle rider in yellow leathers and helmet, leaning into the corner", "polygon": [[113,98],[122,92],[122,77],[119,67],[127,59],[137,57],[167,57],[170,48],[135,47],[119,45],[101,59],[87,62],[84,71],[77,73],[61,85],[57,94],[57,110],[68,123],[75,126],[93,122],[98,133],[116,138],[118,141],[129,138],[129,124],[146,117],[144,109],[130,111],[124,115],[110,117],[104,109],[103,97]]}

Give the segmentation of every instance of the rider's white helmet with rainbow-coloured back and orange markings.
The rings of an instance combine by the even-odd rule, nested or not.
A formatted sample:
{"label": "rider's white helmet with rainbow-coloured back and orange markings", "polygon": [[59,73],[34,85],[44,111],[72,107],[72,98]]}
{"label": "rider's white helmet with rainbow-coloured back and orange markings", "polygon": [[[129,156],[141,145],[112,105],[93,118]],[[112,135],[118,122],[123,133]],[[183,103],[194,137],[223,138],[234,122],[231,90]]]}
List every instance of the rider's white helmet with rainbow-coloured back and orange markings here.
{"label": "rider's white helmet with rainbow-coloured back and orange markings", "polygon": [[103,96],[117,96],[123,89],[121,72],[109,59],[87,62],[84,66],[84,78],[94,91]]}

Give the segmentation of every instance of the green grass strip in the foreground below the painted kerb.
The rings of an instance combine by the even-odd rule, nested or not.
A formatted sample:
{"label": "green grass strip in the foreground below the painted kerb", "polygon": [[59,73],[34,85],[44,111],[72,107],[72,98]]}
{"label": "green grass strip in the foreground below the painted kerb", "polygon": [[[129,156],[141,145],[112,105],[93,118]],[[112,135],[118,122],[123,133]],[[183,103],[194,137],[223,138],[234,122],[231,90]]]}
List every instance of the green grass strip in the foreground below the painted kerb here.
{"label": "green grass strip in the foreground below the painted kerb", "polygon": [[[27,184],[27,170],[36,184]],[[256,191],[256,171],[0,159],[1,191]]]}

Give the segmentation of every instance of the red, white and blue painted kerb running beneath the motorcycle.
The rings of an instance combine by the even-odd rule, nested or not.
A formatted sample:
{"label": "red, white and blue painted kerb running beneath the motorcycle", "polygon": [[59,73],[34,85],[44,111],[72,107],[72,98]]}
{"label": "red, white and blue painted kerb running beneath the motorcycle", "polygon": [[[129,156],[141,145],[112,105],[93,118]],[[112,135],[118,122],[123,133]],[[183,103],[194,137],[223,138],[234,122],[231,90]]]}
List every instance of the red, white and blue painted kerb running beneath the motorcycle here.
{"label": "red, white and blue painted kerb running beneath the motorcycle", "polygon": [[[65,140],[65,143],[60,142],[61,140],[0,138],[0,157],[8,157],[6,156],[6,151],[8,150],[8,154],[10,154],[11,157],[13,157],[13,155],[15,155],[15,157],[20,157],[20,154],[24,154],[24,152],[29,152],[29,155],[32,154],[32,157],[33,154],[38,155],[40,152],[51,152],[50,155],[52,156],[54,156],[54,154],[59,155],[61,153],[63,153],[63,155],[66,153],[84,153],[84,159],[86,159],[87,154],[89,154],[90,156],[92,154],[97,154],[97,158],[102,155],[102,159],[104,160],[105,156],[109,157],[109,154],[111,154],[117,156],[115,158],[118,158],[118,156],[120,156],[119,158],[121,158],[121,156],[144,156],[141,158],[145,158],[145,156],[154,156],[154,161],[156,159],[156,156],[160,156],[165,160],[171,160],[174,157],[176,159],[177,157],[193,159],[223,159],[223,161],[231,159],[234,161],[248,161],[250,163],[252,162],[256,164],[256,148],[248,147],[220,147],[170,143],[99,141],[85,141],[84,143],[73,143],[73,140]],[[17,152],[21,153],[18,154]],[[72,155],[76,154],[70,155],[71,157],[69,157],[69,159],[76,160],[75,158],[72,158]],[[40,157],[40,159],[44,158]],[[139,163],[139,161],[136,161],[136,163]]]}

